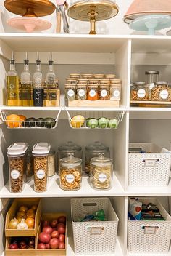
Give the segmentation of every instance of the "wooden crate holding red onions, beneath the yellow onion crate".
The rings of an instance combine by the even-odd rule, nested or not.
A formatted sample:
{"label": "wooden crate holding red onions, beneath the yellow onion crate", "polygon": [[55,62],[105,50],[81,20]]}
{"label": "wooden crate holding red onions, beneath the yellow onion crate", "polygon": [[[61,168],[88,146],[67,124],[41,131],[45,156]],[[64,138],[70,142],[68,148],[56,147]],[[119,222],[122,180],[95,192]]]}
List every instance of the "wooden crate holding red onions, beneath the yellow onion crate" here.
{"label": "wooden crate holding red onions, beneath the yellow onion crate", "polygon": [[7,237],[5,245],[5,256],[36,256],[36,249],[8,249],[10,241],[11,238]]}

